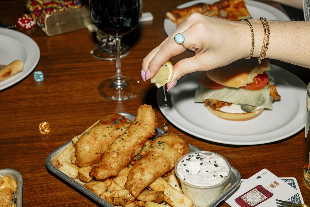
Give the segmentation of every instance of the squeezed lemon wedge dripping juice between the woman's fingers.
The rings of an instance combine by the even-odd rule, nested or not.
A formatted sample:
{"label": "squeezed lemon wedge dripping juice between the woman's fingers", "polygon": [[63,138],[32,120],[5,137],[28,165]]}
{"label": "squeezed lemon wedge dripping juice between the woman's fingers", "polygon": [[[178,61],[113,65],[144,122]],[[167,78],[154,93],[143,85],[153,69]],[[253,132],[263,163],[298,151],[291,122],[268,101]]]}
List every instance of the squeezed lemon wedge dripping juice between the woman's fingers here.
{"label": "squeezed lemon wedge dripping juice between the woman's fingers", "polygon": [[173,65],[170,61],[167,61],[164,65],[160,67],[157,74],[151,78],[151,83],[155,83],[157,88],[162,87],[166,83],[172,80],[173,76]]}

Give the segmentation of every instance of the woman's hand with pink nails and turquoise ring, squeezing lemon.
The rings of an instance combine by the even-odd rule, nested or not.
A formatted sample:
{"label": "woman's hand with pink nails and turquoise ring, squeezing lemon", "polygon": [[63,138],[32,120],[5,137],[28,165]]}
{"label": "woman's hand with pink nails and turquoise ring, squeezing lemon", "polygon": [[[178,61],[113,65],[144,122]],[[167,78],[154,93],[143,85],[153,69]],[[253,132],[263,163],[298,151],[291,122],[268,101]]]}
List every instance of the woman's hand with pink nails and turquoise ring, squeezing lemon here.
{"label": "woman's hand with pink nails and turquoise ring, squeezing lemon", "polygon": [[248,56],[251,49],[250,29],[244,22],[193,13],[144,58],[141,70],[144,81],[152,78],[171,57],[185,51],[184,47],[174,40],[178,33],[184,35],[184,47],[194,49],[195,55],[174,65],[173,78],[167,83],[168,91],[182,76],[227,65]]}

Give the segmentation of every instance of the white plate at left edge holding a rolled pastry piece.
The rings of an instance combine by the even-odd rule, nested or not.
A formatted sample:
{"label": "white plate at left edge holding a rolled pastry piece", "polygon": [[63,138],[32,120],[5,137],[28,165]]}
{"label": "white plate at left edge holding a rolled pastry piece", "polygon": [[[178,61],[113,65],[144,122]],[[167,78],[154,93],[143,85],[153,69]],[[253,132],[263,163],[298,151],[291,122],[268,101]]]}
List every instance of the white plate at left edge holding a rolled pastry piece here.
{"label": "white plate at left edge holding a rolled pastry piece", "polygon": [[0,65],[8,65],[15,60],[24,62],[22,72],[0,82],[0,91],[29,75],[39,59],[40,49],[32,38],[13,29],[0,28]]}

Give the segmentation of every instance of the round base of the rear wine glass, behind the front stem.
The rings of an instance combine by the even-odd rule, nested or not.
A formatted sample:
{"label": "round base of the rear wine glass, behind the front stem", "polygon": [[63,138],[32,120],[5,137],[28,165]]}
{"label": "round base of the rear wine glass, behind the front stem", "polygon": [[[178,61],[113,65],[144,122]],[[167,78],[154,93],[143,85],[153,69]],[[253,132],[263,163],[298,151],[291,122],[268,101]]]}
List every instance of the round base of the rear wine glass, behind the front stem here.
{"label": "round base of the rear wine glass, behind the front stem", "polygon": [[[95,47],[91,49],[91,54],[95,58],[104,61],[115,60],[115,44],[109,45],[106,43],[96,44]],[[120,57],[126,57],[129,54],[129,46],[125,43],[121,43],[120,47]]]}

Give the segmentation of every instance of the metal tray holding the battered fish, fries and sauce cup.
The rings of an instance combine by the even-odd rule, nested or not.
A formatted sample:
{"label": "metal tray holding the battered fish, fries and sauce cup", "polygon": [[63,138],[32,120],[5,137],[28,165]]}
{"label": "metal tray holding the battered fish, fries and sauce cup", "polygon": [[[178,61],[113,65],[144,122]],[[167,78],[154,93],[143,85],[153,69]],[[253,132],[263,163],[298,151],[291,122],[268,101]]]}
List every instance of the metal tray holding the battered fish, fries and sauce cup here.
{"label": "metal tray holding the battered fish, fries and sauce cup", "polygon": [[[121,112],[119,114],[126,116],[126,118],[129,119],[130,121],[133,121],[135,119],[134,115],[126,113],[126,112]],[[166,131],[164,131],[160,128],[156,128],[156,135],[154,136],[154,138],[157,138],[158,136],[161,136],[165,133],[166,133]],[[84,187],[83,182],[81,182],[79,179],[72,179],[69,176],[67,176],[66,174],[62,173],[58,169],[56,158],[60,155],[60,153],[62,153],[70,145],[72,145],[71,140],[69,142],[67,142],[66,144],[64,144],[63,146],[56,149],[55,151],[51,152],[50,155],[48,155],[48,157],[46,159],[47,169],[49,169],[52,173],[54,173],[55,175],[57,175],[58,177],[60,177],[64,181],[68,182],[70,185],[72,185],[73,187],[75,187],[79,191],[82,191],[86,196],[89,196],[92,199],[94,199],[95,201],[97,201],[102,206],[114,207],[113,205],[109,204],[107,201],[102,199],[100,196],[97,196],[95,193],[91,192],[86,187]],[[190,152],[200,151],[200,149],[189,144],[189,151]],[[237,171],[237,169],[235,169],[234,167],[231,167],[231,175],[228,179],[228,183],[230,183],[231,185],[225,191],[223,191],[223,193],[217,199],[215,199],[213,202],[211,202],[207,207],[215,207],[221,201],[223,201],[229,194],[231,194],[235,189],[237,189],[237,187],[239,187],[239,185],[241,183],[241,176],[240,176],[240,173]]]}

